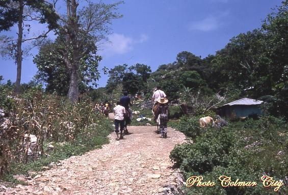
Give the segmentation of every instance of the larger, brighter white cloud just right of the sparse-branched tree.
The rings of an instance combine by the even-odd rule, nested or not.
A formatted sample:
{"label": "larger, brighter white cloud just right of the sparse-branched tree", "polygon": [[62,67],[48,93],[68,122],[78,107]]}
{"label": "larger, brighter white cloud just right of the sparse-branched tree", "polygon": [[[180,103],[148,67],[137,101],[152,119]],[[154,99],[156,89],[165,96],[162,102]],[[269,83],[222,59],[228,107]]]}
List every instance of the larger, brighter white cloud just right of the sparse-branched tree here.
{"label": "larger, brighter white cloud just right of the sparse-branched tree", "polygon": [[141,34],[139,39],[133,39],[123,34],[114,33],[110,35],[109,42],[100,45],[100,55],[123,54],[133,50],[135,44],[140,44],[148,40],[148,36]]}

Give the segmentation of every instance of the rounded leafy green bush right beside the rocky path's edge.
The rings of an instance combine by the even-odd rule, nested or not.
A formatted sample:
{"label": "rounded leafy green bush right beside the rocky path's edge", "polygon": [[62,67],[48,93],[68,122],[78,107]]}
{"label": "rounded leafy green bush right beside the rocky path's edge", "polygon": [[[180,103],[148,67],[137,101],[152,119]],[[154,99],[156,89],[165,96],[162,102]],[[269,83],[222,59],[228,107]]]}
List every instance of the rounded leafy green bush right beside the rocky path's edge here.
{"label": "rounded leafy green bush right beside the rocky path's edge", "polygon": [[178,146],[179,149],[171,152],[171,158],[188,172],[211,172],[215,166],[227,165],[227,154],[235,138],[227,128],[222,129],[221,134],[210,128],[196,138],[195,144]]}

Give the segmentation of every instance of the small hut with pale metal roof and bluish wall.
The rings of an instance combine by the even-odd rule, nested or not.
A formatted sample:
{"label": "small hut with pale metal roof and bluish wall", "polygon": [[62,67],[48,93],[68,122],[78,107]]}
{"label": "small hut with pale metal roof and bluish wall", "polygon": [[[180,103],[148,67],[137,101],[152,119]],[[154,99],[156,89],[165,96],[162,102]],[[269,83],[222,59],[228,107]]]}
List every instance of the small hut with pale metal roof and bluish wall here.
{"label": "small hut with pale metal roof and bluish wall", "polygon": [[218,114],[226,118],[243,118],[249,115],[261,115],[260,104],[263,101],[242,98],[217,108]]}

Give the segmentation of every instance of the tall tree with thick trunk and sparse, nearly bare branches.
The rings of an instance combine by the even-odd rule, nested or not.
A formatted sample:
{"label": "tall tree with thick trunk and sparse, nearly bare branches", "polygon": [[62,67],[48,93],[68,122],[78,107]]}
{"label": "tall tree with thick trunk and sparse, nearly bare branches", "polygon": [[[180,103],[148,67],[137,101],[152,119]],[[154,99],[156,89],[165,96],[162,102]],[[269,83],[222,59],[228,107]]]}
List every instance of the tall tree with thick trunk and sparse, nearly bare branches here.
{"label": "tall tree with thick trunk and sparse, nearly bare branches", "polygon": [[[115,4],[103,4],[87,2],[87,6],[78,9],[76,0],[67,0],[67,16],[61,19],[61,28],[59,33],[65,35],[63,45],[66,47],[59,49],[69,73],[69,91],[68,97],[76,102],[78,99],[78,79],[80,59],[87,55],[89,49],[84,49],[87,41],[99,43],[106,39],[110,33],[109,24],[113,19],[121,18],[122,15],[115,12],[117,6],[122,2]],[[69,53],[72,58],[69,58]]]}

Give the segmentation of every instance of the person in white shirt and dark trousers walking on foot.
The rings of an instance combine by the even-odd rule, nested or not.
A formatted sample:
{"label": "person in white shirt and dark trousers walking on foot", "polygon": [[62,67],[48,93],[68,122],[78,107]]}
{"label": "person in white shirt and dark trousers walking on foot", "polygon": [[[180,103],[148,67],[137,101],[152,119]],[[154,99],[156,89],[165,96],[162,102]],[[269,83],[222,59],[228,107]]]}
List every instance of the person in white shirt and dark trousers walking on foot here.
{"label": "person in white shirt and dark trousers walking on foot", "polygon": [[119,125],[120,125],[120,139],[122,139],[123,129],[124,129],[124,115],[126,111],[125,111],[125,107],[120,105],[120,101],[117,102],[117,106],[114,107],[113,110],[114,110],[115,132],[117,135],[116,140],[119,140]]}

